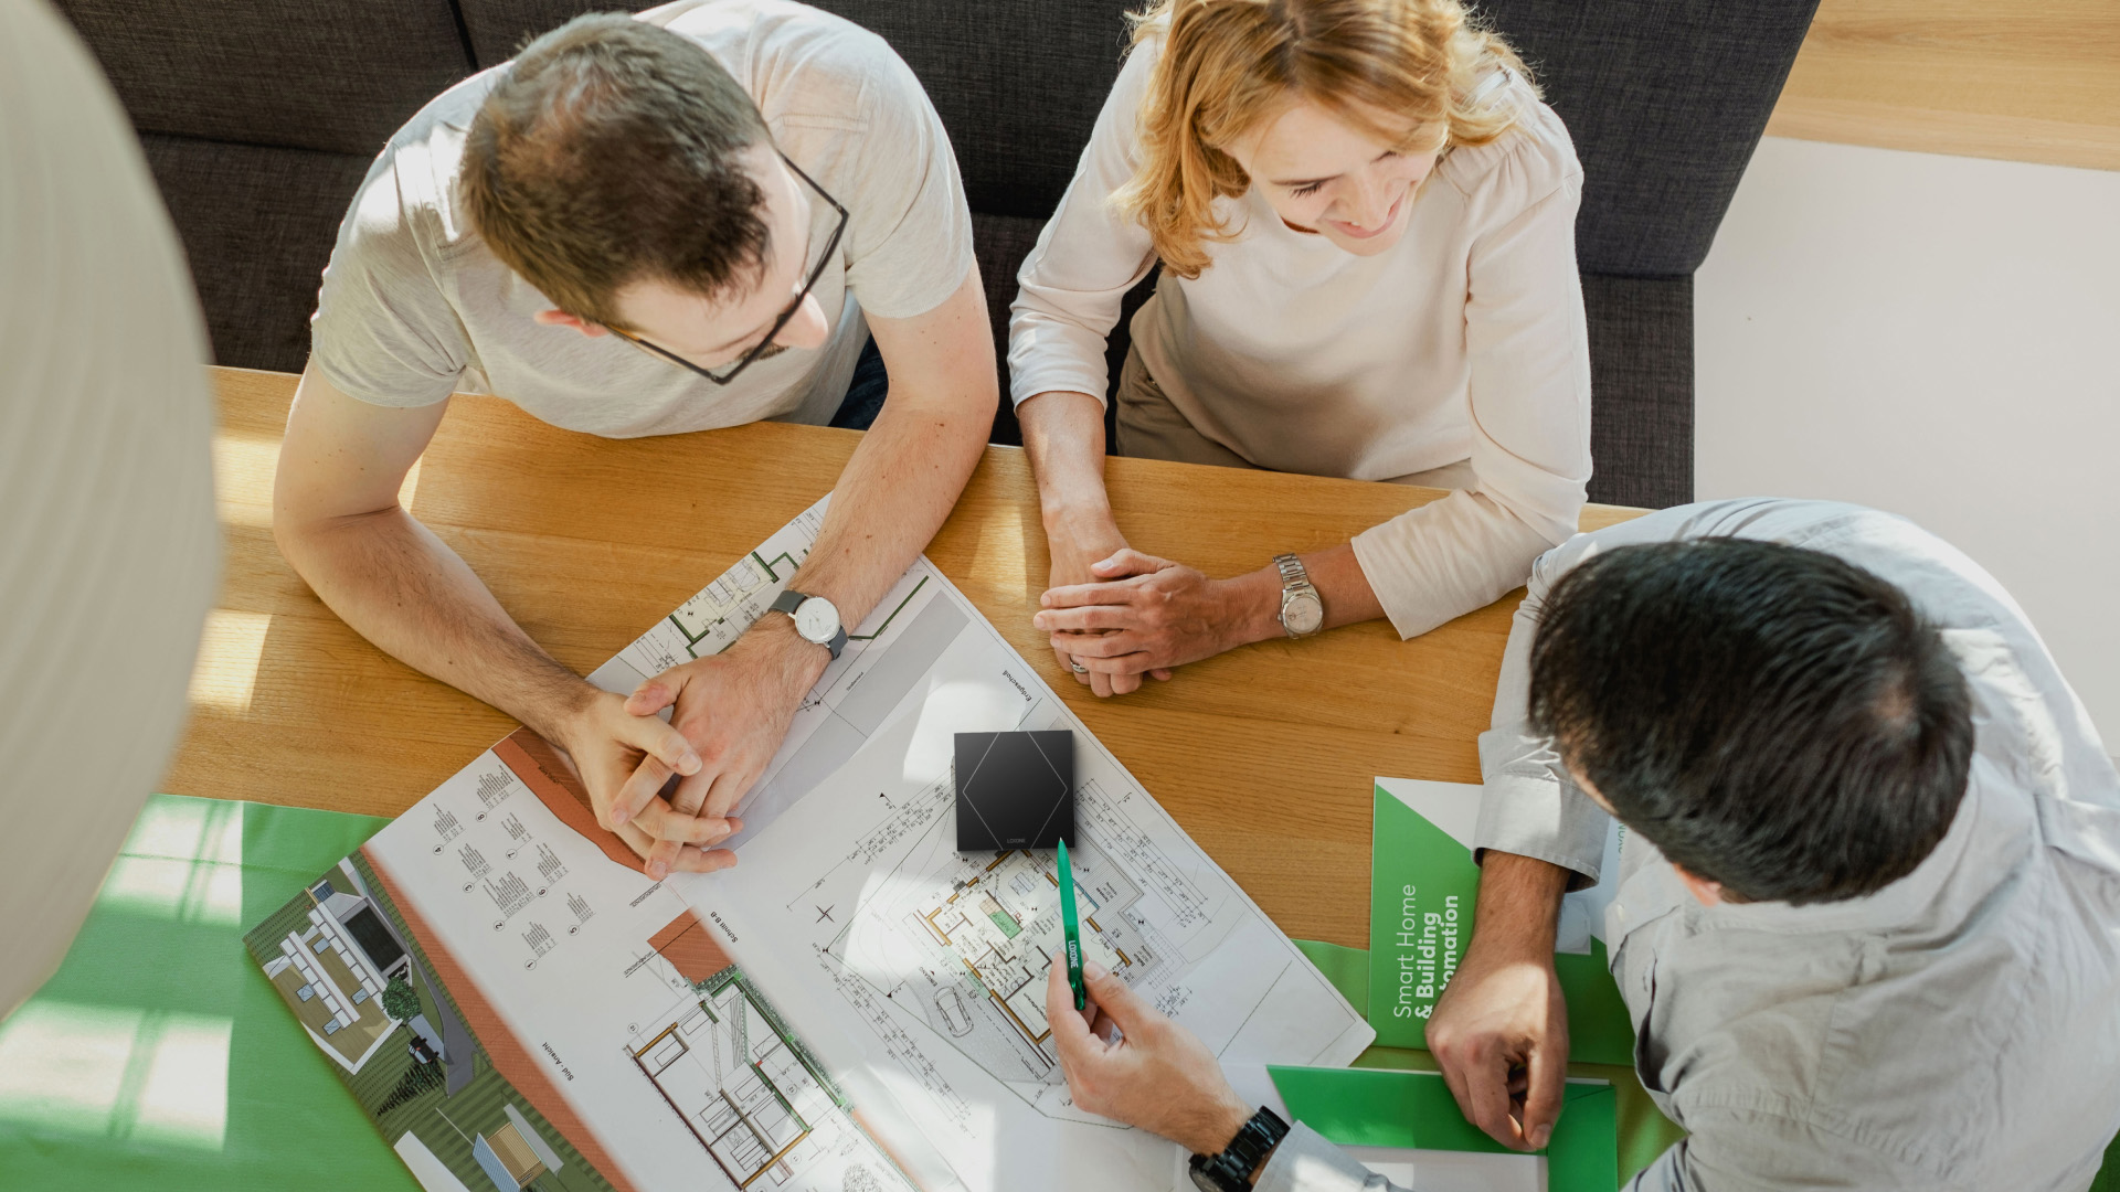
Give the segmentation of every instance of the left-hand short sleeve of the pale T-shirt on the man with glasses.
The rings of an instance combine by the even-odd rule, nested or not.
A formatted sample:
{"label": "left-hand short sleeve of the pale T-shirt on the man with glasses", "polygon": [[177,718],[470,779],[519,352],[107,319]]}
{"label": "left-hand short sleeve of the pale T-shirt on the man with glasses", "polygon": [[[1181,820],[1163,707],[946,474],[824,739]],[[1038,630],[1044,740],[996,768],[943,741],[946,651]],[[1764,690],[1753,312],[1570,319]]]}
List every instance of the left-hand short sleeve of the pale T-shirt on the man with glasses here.
{"label": "left-hand short sleeve of the pale T-shirt on the man with glasses", "polygon": [[473,363],[471,335],[422,250],[424,210],[401,187],[396,146],[369,170],[339,225],[310,320],[310,356],[371,405],[435,405]]}

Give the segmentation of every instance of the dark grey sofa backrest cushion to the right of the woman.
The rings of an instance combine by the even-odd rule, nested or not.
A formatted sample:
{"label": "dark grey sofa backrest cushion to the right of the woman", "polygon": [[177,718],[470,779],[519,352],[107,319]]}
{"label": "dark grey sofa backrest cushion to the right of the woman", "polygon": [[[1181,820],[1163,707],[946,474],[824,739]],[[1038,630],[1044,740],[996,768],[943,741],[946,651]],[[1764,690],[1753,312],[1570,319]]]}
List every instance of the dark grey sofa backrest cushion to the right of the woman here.
{"label": "dark grey sofa backrest cushion to the right of the woman", "polygon": [[1584,274],[1700,267],[1817,0],[1488,0],[1575,138]]}

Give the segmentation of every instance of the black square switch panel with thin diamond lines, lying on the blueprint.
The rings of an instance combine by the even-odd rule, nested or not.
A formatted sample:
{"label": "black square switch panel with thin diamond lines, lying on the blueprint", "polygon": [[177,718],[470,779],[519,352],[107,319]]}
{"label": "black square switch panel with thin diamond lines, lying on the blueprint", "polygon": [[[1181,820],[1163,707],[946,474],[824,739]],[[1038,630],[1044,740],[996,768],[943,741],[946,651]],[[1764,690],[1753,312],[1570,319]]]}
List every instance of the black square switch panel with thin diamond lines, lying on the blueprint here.
{"label": "black square switch panel with thin diamond lines, lying on the blueprint", "polygon": [[1054,848],[1075,838],[1075,734],[956,734],[956,851]]}

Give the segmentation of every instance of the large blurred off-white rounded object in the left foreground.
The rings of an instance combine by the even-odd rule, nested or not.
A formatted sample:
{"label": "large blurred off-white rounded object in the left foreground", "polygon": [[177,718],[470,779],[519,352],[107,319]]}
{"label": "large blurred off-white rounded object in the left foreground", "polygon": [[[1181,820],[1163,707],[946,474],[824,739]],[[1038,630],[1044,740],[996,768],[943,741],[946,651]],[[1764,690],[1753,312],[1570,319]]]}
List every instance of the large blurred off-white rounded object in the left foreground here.
{"label": "large blurred off-white rounded object in the left foreground", "polygon": [[146,159],[0,0],[0,1014],[51,974],[184,723],[214,596],[206,333]]}

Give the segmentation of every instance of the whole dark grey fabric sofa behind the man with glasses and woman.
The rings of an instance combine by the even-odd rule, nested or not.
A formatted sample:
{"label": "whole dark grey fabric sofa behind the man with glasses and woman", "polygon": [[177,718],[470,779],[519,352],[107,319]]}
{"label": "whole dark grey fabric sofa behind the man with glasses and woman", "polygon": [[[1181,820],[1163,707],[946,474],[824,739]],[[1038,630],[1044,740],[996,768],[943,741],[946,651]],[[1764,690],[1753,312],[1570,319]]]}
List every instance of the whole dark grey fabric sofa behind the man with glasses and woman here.
{"label": "whole dark grey fabric sofa behind the man with glasses and woman", "polygon": [[[1119,68],[1138,0],[818,0],[897,47],[950,129],[1001,344],[1015,267]],[[131,112],[214,354],[301,369],[318,274],[384,140],[585,0],[57,0]],[[640,6],[640,4],[634,4]],[[1817,0],[1492,0],[1584,161],[1596,501],[1692,498],[1692,274]],[[1147,284],[1132,303],[1147,297]],[[1113,337],[1113,375],[1124,356]],[[1005,356],[1005,352],[1003,352]],[[1007,384],[1003,384],[1007,392]],[[994,439],[1015,441],[1007,401]]]}

